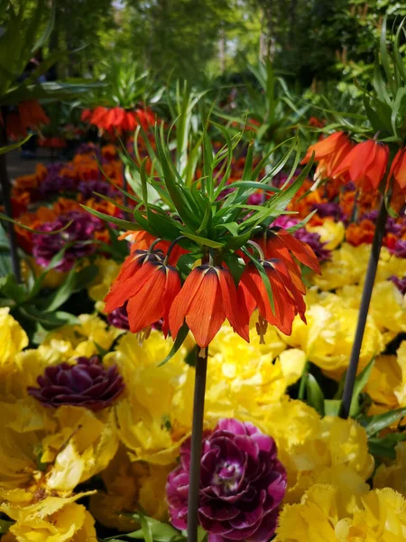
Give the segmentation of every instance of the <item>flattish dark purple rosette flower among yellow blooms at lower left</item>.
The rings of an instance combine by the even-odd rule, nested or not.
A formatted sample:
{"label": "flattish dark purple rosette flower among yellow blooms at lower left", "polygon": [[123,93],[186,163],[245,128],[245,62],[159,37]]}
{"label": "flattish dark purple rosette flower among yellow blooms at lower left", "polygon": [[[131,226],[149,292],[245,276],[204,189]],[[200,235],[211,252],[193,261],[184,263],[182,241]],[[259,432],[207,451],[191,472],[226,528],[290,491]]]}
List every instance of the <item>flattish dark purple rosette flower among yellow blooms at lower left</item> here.
{"label": "flattish dark purple rosette flower among yellow blooms at lower left", "polygon": [[28,393],[43,405],[85,406],[95,412],[110,406],[125,388],[117,367],[106,369],[97,356],[47,367],[37,382],[39,388],[31,386]]}

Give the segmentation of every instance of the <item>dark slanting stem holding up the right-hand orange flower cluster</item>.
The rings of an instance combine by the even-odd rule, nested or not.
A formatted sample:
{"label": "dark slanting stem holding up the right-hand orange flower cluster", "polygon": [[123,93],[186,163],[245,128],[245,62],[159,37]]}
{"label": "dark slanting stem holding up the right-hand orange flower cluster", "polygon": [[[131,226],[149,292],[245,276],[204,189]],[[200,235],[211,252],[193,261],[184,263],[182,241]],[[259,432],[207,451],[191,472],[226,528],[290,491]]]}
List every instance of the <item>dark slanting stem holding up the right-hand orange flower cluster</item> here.
{"label": "dark slanting stem holding up the right-hand orange flower cluster", "polygon": [[366,317],[368,316],[369,304],[371,302],[371,295],[374,288],[374,280],[376,276],[376,268],[379,262],[379,255],[381,253],[383,234],[385,230],[386,218],[388,211],[386,210],[384,198],[381,201],[381,207],[376,220],[374,240],[371,246],[371,253],[369,256],[368,267],[366,269],[364,290],[361,298],[361,305],[359,307],[358,322],[356,324],[355,339],[353,344],[353,350],[351,350],[351,357],[346,371],[346,382],[344,384],[343,398],[341,402],[340,416],[347,418],[350,415],[351,400],[354,392],[354,384],[356,377],[356,369],[358,369],[359,354],[363,343],[364,330],[366,324]]}

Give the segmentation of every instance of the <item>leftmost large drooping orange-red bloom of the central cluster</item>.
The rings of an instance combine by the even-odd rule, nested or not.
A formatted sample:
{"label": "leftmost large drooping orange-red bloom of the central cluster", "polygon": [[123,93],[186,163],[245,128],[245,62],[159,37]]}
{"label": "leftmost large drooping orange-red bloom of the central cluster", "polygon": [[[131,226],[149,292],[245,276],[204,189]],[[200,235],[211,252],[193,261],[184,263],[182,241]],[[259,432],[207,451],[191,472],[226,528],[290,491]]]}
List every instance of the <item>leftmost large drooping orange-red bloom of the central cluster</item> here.
{"label": "leftmost large drooping orange-red bloom of the central cluster", "polygon": [[106,295],[105,312],[111,313],[127,302],[128,322],[133,333],[148,331],[163,319],[162,332],[168,334],[171,304],[180,292],[180,275],[166,266],[161,251],[136,251],[126,258]]}

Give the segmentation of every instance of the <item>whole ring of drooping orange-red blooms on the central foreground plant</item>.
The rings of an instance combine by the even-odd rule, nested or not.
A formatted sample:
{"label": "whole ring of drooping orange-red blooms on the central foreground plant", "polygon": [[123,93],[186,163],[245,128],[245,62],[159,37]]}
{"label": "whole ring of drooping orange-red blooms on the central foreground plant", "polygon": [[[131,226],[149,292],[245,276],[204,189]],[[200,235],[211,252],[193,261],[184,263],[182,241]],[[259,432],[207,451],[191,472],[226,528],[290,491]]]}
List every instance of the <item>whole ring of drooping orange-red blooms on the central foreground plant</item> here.
{"label": "whole ring of drooping orange-red blooms on the central foreground plant", "polygon": [[166,335],[170,331],[175,339],[186,322],[198,346],[206,348],[226,319],[236,333],[249,341],[249,322],[256,308],[260,335],[266,331],[266,322],[285,334],[291,333],[296,314],[306,322],[305,286],[299,262],[318,273],[318,260],[306,243],[283,229],[269,229],[256,239],[263,248],[264,259],[259,265],[269,278],[273,307],[263,276],[253,263],[245,266],[238,286],[226,266],[212,264],[195,267],[180,286],[178,271],[166,264],[171,257],[167,255],[166,242],[154,243],[153,250],[145,249],[140,247],[144,243],[151,246],[150,234],[129,235],[136,248],[126,258],[106,295],[105,312],[111,313],[127,303],[130,329],[134,333],[143,332],[153,322],[163,319],[163,332]]}

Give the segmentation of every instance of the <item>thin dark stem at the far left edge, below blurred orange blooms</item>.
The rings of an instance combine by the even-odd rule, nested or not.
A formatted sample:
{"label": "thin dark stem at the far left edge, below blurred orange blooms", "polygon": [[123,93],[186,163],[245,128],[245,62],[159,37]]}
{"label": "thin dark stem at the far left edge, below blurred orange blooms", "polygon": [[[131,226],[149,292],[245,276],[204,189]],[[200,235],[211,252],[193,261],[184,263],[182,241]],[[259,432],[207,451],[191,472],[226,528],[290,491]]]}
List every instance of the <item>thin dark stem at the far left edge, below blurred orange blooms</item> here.
{"label": "thin dark stem at the far left edge, below blurred orange blooms", "polygon": [[[7,145],[7,132],[5,127],[6,115],[3,115],[4,125],[0,126],[0,147]],[[0,183],[2,187],[3,202],[5,204],[5,214],[9,219],[13,219],[13,207],[11,202],[10,181],[7,173],[6,154],[0,154]],[[10,257],[12,261],[15,282],[21,282],[20,257],[17,252],[17,239],[13,222],[7,221],[7,234],[10,243]]]}

